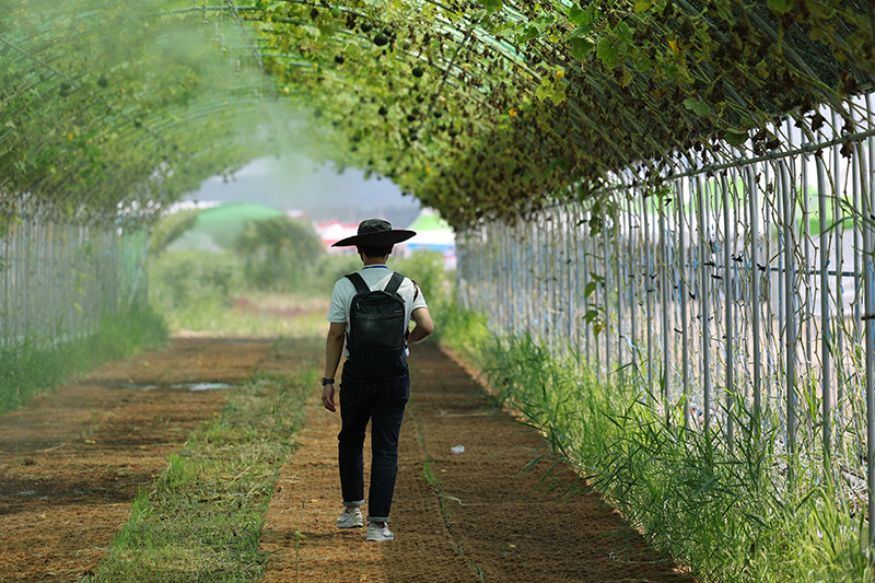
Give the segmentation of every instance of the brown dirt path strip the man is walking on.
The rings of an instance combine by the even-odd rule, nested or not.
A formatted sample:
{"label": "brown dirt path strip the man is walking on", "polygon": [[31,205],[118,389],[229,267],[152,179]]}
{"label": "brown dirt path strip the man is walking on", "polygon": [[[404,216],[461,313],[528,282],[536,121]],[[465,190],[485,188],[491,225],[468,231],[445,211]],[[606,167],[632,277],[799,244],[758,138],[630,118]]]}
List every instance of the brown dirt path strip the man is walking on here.
{"label": "brown dirt path strip the man is walking on", "polygon": [[[365,544],[362,529],[335,527],[339,418],[322,409],[314,390],[301,446],[266,517],[266,581],[691,581],[656,560],[596,495],[567,502],[537,492],[542,470],[521,469],[541,438],[492,408],[440,350],[416,348],[393,504],[396,539]],[[465,452],[452,454],[455,445]]]}

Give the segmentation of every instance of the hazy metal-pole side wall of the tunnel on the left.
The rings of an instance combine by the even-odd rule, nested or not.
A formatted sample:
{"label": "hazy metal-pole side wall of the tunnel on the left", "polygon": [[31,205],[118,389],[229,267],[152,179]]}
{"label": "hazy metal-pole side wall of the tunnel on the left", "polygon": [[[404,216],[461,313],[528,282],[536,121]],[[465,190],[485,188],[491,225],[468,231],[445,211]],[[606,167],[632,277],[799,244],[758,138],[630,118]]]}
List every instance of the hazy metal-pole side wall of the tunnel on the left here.
{"label": "hazy metal-pole side wall of the tunnel on the left", "polygon": [[89,336],[144,302],[145,230],[22,215],[0,237],[0,348]]}

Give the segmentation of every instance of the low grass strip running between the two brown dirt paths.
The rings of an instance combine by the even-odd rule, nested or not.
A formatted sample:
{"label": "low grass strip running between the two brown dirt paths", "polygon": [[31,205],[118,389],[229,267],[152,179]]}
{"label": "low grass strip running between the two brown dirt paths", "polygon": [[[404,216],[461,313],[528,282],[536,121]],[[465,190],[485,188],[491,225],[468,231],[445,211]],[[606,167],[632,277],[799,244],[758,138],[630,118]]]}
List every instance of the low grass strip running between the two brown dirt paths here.
{"label": "low grass strip running between the two brown dirt paths", "polygon": [[303,403],[317,377],[322,341],[279,341],[272,362],[229,394],[148,492],[90,581],[238,581],[264,574],[258,551],[279,468],[293,451]]}

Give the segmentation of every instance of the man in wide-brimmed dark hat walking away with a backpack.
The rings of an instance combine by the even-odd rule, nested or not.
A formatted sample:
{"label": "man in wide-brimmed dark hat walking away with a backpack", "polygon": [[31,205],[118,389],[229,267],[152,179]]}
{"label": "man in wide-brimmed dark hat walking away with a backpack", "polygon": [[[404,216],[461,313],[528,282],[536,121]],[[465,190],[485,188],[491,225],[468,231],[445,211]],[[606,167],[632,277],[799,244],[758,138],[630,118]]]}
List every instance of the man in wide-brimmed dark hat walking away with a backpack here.
{"label": "man in wide-brimmed dark hat walking away with a backpack", "polygon": [[[337,436],[345,509],[337,526],[364,525],[363,446],[370,421],[365,540],[395,538],[388,521],[398,474],[398,436],[410,396],[407,345],[422,340],[434,329],[419,287],[386,266],[394,245],[415,234],[393,229],[382,219],[368,219],[359,224],[357,235],[332,245],[355,246],[363,264],[358,273],[338,280],[331,292],[322,403],[327,410],[337,411],[335,374],[345,355],[339,394],[341,429]],[[411,319],[416,326],[409,330]]]}

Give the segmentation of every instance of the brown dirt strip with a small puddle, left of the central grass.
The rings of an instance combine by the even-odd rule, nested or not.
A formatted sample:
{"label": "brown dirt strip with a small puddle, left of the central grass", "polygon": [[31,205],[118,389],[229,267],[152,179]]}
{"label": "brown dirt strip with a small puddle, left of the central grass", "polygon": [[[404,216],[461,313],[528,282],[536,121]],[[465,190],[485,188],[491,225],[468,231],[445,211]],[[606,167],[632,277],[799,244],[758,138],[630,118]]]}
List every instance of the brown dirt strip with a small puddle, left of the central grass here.
{"label": "brown dirt strip with a small puddle, left of the central grass", "polygon": [[269,350],[265,341],[180,339],[0,417],[0,581],[92,572],[137,490],[224,406],[222,390],[197,384],[241,383]]}

